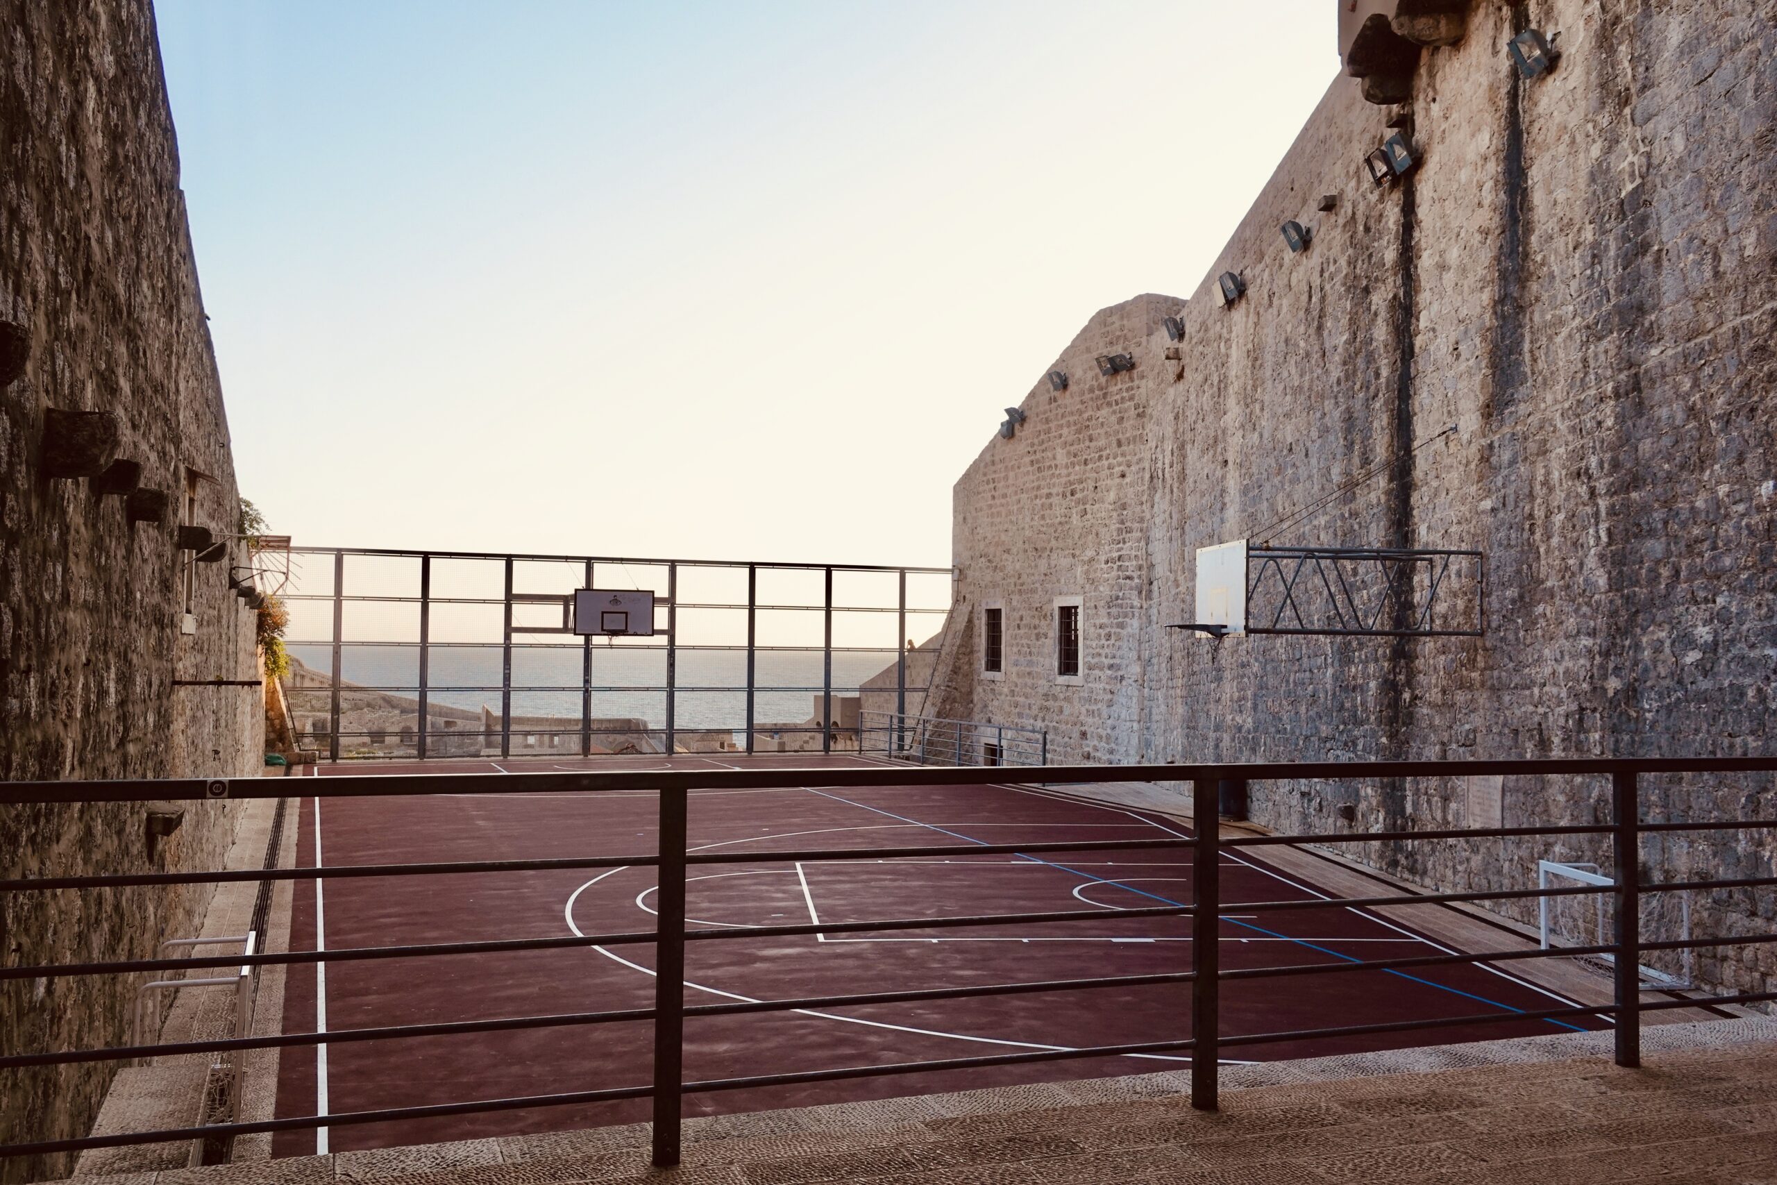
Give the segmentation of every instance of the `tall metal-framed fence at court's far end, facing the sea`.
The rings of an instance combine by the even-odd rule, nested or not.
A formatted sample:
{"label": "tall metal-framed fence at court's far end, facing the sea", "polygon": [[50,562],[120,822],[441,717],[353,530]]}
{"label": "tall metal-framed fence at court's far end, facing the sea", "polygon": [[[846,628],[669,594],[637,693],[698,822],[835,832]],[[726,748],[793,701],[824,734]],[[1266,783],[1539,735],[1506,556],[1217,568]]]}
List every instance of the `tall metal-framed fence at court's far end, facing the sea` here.
{"label": "tall metal-framed fence at court's far end, facing the sea", "polygon": [[[494,686],[450,688],[451,691],[483,691],[483,693],[498,693],[499,695],[499,757],[501,759],[512,757],[512,736],[514,736],[514,728],[512,728],[512,696],[514,696],[514,693],[528,693],[528,691],[567,691],[563,688],[514,686],[514,682],[512,682],[514,636],[517,634],[517,636],[522,638],[526,634],[562,632],[562,631],[553,631],[553,629],[526,629],[522,624],[514,625],[514,613],[512,613],[512,609],[514,609],[515,604],[535,604],[535,602],[542,602],[546,599],[553,599],[553,597],[546,597],[546,595],[540,595],[540,593],[517,592],[514,588],[514,567],[517,563],[579,563],[579,565],[585,565],[585,576],[583,576],[585,585],[583,586],[586,586],[586,588],[590,588],[592,583],[594,583],[595,565],[618,565],[618,567],[622,567],[622,565],[638,565],[638,567],[649,567],[649,569],[666,569],[666,592],[665,592],[665,595],[656,593],[656,608],[661,608],[666,613],[666,629],[665,631],[657,631],[657,634],[665,636],[665,645],[657,647],[659,650],[665,652],[665,664],[666,664],[665,682],[661,682],[659,686],[652,686],[650,684],[650,686],[634,686],[634,688],[629,688],[629,686],[622,686],[622,688],[595,688],[592,684],[592,643],[594,643],[594,638],[592,636],[585,636],[581,640],[583,659],[581,659],[581,686],[579,686],[579,691],[581,691],[579,728],[576,728],[576,730],[569,730],[569,728],[542,730],[542,732],[538,732],[538,730],[524,730],[526,736],[578,736],[579,737],[579,752],[581,753],[590,753],[592,752],[594,736],[599,732],[599,730],[595,730],[592,727],[592,720],[594,720],[594,716],[592,716],[592,696],[594,696],[594,693],[604,693],[604,691],[663,693],[665,700],[666,700],[665,727],[663,728],[649,728],[649,732],[659,732],[659,734],[663,734],[663,746],[665,746],[666,753],[673,753],[675,752],[677,737],[682,732],[682,728],[679,727],[679,721],[675,718],[675,714],[677,714],[677,711],[675,711],[677,709],[677,698],[679,698],[681,693],[698,693],[698,691],[745,693],[745,696],[746,696],[745,723],[739,728],[734,728],[734,732],[745,734],[745,752],[746,753],[753,753],[755,752],[755,741],[757,741],[757,732],[759,732],[759,728],[755,727],[757,725],[755,700],[757,700],[759,693],[773,693],[773,695],[775,693],[819,695],[821,696],[821,705],[823,705],[819,727],[791,727],[791,728],[778,727],[773,732],[798,732],[798,734],[816,734],[817,732],[817,734],[821,734],[821,752],[823,753],[830,753],[833,750],[833,739],[835,739],[835,732],[837,732],[837,728],[833,727],[833,695],[835,693],[846,693],[846,695],[849,695],[853,691],[853,688],[849,688],[849,686],[839,686],[839,688],[833,686],[833,613],[894,613],[896,615],[896,645],[894,645],[894,650],[897,654],[897,657],[894,661],[894,666],[896,666],[896,684],[894,684],[894,688],[881,688],[881,689],[876,689],[876,688],[860,688],[858,691],[865,693],[865,695],[878,693],[878,691],[881,695],[890,695],[892,693],[896,696],[896,712],[906,712],[906,696],[908,696],[908,693],[910,691],[922,693],[922,691],[928,689],[926,686],[908,686],[908,650],[906,650],[906,645],[904,645],[906,640],[908,640],[908,629],[906,629],[908,627],[908,616],[947,615],[949,613],[949,608],[945,608],[945,609],[931,609],[931,608],[924,608],[924,606],[908,606],[906,579],[908,579],[908,576],[949,576],[954,581],[954,576],[956,576],[954,569],[913,567],[913,565],[793,563],[793,561],[752,561],[752,560],[659,560],[659,558],[636,558],[636,556],[558,556],[558,554],[540,554],[540,553],[426,551],[426,549],[389,549],[389,547],[291,547],[290,554],[299,558],[297,560],[297,569],[299,570],[302,567],[302,563],[300,563],[302,556],[316,558],[316,560],[322,560],[322,561],[331,561],[331,565],[332,565],[332,592],[331,593],[302,593],[300,592],[300,588],[302,588],[300,579],[291,577],[293,586],[299,592],[284,592],[283,597],[288,599],[288,600],[316,600],[316,602],[331,602],[332,604],[332,632],[331,632],[331,638],[299,638],[299,640],[291,640],[288,645],[291,645],[291,647],[331,647],[331,672],[329,672],[329,684],[327,684],[327,691],[331,693],[329,695],[327,760],[334,760],[334,762],[341,760],[339,739],[341,739],[341,736],[345,736],[339,730],[343,659],[345,659],[345,648],[352,647],[352,645],[400,645],[400,647],[409,647],[410,645],[410,647],[418,648],[418,656],[419,656],[418,688],[375,688],[375,686],[364,686],[366,691],[384,691],[384,693],[391,693],[391,691],[394,691],[394,693],[407,693],[407,691],[412,691],[416,695],[418,704],[419,704],[419,709],[418,709],[418,725],[416,725],[416,737],[414,737],[414,741],[416,741],[416,752],[412,755],[409,755],[409,753],[387,753],[387,755],[375,755],[375,757],[355,757],[355,760],[380,760],[380,759],[386,759],[386,757],[389,757],[389,759],[402,759],[402,760],[428,760],[428,759],[435,757],[435,755],[432,755],[432,753],[426,752],[426,748],[428,748],[428,732],[430,732],[430,714],[428,714],[430,695],[434,691],[441,689],[441,688],[435,688],[432,684],[432,679],[430,679],[430,673],[432,673],[430,672],[430,657],[432,657],[432,647],[434,647],[434,640],[430,636],[432,634],[432,606],[434,604],[442,604],[442,602],[467,604],[469,600],[464,600],[460,597],[450,597],[450,599],[434,597],[434,590],[432,590],[432,561],[434,560],[480,560],[480,561],[505,563],[505,588],[503,588],[503,597],[499,600],[487,600],[487,604],[503,604],[503,638],[501,638],[501,641],[499,643],[492,643],[492,641],[489,641],[489,643],[450,643],[450,645],[473,645],[473,647],[485,647],[485,648],[492,648],[492,647],[498,645],[501,648],[501,686],[498,686],[498,688],[494,688]],[[419,560],[419,595],[418,597],[377,597],[377,595],[364,595],[364,593],[352,593],[352,592],[348,592],[347,586],[345,586],[347,585],[347,558],[348,556],[384,556],[384,558],[414,558],[414,560]],[[681,606],[681,602],[679,602],[679,570],[681,569],[732,569],[732,570],[745,570],[746,572],[746,602],[745,604],[684,604],[684,606]],[[825,586],[823,604],[814,604],[814,606],[810,606],[810,604],[796,604],[796,606],[759,604],[759,595],[757,595],[757,592],[759,592],[759,572],[762,569],[764,570],[821,572],[823,574],[823,586]],[[897,576],[899,602],[894,608],[833,604],[833,572],[885,572],[885,574],[892,572],[892,574]],[[354,602],[354,600],[418,602],[418,606],[419,606],[418,641],[407,641],[407,640],[391,640],[391,641],[350,640],[348,641],[345,638],[345,606],[347,606],[347,602]],[[476,599],[474,602],[483,602],[483,600]],[[746,652],[746,682],[745,682],[745,686],[721,686],[721,688],[700,688],[700,686],[698,688],[681,688],[679,686],[679,682],[677,682],[677,664],[679,664],[677,659],[679,659],[681,645],[679,645],[679,638],[677,638],[677,632],[679,632],[679,622],[677,622],[677,618],[679,618],[679,609],[681,608],[688,608],[688,609],[745,609],[746,611],[746,643],[745,643],[745,647],[686,647],[688,650],[709,650],[709,648],[745,650]],[[807,613],[821,613],[823,615],[823,645],[821,647],[764,647],[764,648],[773,650],[773,652],[821,654],[823,656],[823,663],[821,663],[821,668],[823,668],[821,686],[793,686],[793,688],[778,688],[778,686],[759,688],[757,686],[757,654],[762,648],[762,647],[757,645],[757,616],[759,616],[761,611],[773,611],[773,609],[794,609],[794,611],[807,611]],[[521,641],[517,645],[522,647],[526,643]],[[558,647],[558,648],[569,650],[570,647]],[[876,652],[878,647],[867,647],[867,650]],[[881,648],[881,650],[887,656],[887,648]],[[318,688],[293,688],[291,691],[302,693],[302,691],[320,691],[320,689]],[[727,728],[718,728],[718,730],[720,732],[727,732]],[[698,732],[702,732],[702,728]],[[355,734],[352,734],[352,736],[355,736]],[[466,734],[455,734],[455,736],[466,736]]]}

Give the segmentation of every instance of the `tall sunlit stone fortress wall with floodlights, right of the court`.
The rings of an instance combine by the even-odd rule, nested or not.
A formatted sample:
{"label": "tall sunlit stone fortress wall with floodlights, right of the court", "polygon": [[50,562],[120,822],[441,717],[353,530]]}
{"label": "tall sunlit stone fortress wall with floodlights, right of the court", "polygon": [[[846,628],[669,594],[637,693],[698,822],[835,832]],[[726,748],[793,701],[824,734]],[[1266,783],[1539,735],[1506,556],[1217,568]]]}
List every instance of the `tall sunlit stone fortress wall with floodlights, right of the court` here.
{"label": "tall sunlit stone fortress wall with floodlights, right of the court", "polygon": [[[1347,7],[1347,36],[1379,14],[1443,44],[1384,44],[1400,57],[1335,78],[1198,290],[1093,316],[1045,368],[1068,389],[1038,380],[1027,421],[956,483],[974,640],[951,714],[1048,725],[1052,760],[1777,752],[1777,4]],[[1555,37],[1551,73],[1514,69],[1525,28]],[[1422,163],[1372,185],[1363,156],[1395,130]],[[1308,251],[1285,220],[1311,227]],[[1224,307],[1230,270],[1246,293]],[[1105,352],[1134,370],[1102,378]],[[1391,473],[1272,542],[1480,549],[1484,638],[1166,629],[1194,616],[1198,547],[1258,538],[1377,462]],[[1077,684],[1054,675],[1064,597],[1082,602]],[[979,650],[993,604],[999,679]],[[1747,776],[1651,778],[1644,801],[1647,817],[1777,807]],[[1251,801],[1263,824],[1329,831],[1606,812],[1603,780],[1553,778]],[[1525,887],[1539,856],[1608,867],[1592,842],[1342,849],[1450,890]],[[1649,835],[1644,860],[1777,863],[1770,839],[1708,835]],[[1697,933],[1777,920],[1770,894],[1693,904]],[[1649,901],[1649,933],[1670,906]],[[1701,972],[1768,986],[1777,950],[1704,952]]]}

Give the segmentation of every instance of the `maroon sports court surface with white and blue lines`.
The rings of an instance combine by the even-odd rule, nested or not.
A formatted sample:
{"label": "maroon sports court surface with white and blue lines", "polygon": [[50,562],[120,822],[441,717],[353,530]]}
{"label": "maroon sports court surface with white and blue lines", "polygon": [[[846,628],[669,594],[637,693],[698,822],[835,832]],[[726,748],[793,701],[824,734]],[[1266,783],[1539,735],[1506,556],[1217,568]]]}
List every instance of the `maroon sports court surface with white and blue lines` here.
{"label": "maroon sports court surface with white and blue lines", "polygon": [[[334,766],[322,773],[464,773],[524,769],[686,769],[713,757],[565,762]],[[782,789],[693,791],[691,851],[787,851],[910,844],[1016,844],[1176,839],[1176,821],[1020,785],[835,789],[809,766],[860,759],[732,759],[803,769]],[[880,764],[880,762],[867,762]],[[652,853],[656,796],[450,794],[300,799],[299,863],[531,860]],[[316,810],[318,803],[318,810]],[[1320,897],[1246,853],[1223,856],[1223,901]],[[725,863],[691,869],[691,927],[785,926],[963,913],[1080,910],[1096,920],[979,929],[908,929],[796,938],[695,942],[686,1002],[894,991],[1191,970],[1187,919],[1130,919],[1120,910],[1189,904],[1191,851],[1180,847],[951,855],[938,858]],[[551,938],[654,926],[656,869],[570,869],[315,881],[297,890],[291,947],[327,949]],[[322,919],[320,934],[316,919]],[[1223,968],[1338,963],[1445,950],[1359,910],[1240,915],[1224,910]],[[652,945],[517,954],[380,959],[293,966],[284,1030],[307,1032],[650,1007]],[[1411,974],[1347,972],[1223,986],[1223,1034],[1363,1025],[1436,1016],[1535,1011],[1566,1004],[1505,972],[1438,966]],[[1582,1022],[1583,1027],[1594,1027]],[[1224,1061],[1283,1059],[1573,1029],[1500,1022],[1226,1050]],[[686,1080],[977,1057],[1002,1052],[1167,1041],[1191,1036],[1189,984],[1102,988],[686,1022]],[[693,1094],[686,1114],[892,1098],[979,1086],[1176,1070],[1187,1055],[1100,1057],[928,1071],[883,1078]],[[524,1094],[645,1086],[652,1029],[620,1022],[286,1048],[277,1116],[341,1114]],[[647,1100],[505,1110],[448,1119],[281,1132],[277,1155],[512,1135],[647,1117]]]}

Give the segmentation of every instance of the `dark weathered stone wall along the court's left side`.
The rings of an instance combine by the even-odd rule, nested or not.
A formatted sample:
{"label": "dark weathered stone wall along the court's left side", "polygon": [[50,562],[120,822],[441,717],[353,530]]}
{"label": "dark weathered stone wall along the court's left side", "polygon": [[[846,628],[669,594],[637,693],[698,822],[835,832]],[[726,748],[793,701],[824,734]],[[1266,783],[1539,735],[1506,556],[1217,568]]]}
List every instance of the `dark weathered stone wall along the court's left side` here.
{"label": "dark weathered stone wall along the court's left side", "polygon": [[[30,336],[0,393],[0,776],[258,773],[252,613],[199,565],[183,636],[174,542],[190,471],[195,515],[235,531],[227,423],[179,194],[172,119],[147,0],[0,0],[0,318]],[[117,457],[169,494],[165,522],[124,521],[119,496],[43,473],[44,409],[114,412]],[[238,558],[233,561],[240,561]],[[226,805],[187,805],[151,844],[140,805],[0,810],[0,876],[215,867]],[[7,966],[140,958],[190,933],[206,887],[0,895]],[[0,982],[0,1048],[119,1045],[135,982]],[[84,1133],[116,1066],[0,1071],[0,1142]],[[0,1164],[0,1180],[66,1171]]]}

